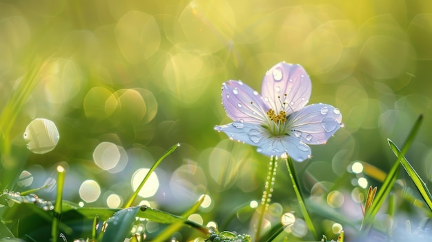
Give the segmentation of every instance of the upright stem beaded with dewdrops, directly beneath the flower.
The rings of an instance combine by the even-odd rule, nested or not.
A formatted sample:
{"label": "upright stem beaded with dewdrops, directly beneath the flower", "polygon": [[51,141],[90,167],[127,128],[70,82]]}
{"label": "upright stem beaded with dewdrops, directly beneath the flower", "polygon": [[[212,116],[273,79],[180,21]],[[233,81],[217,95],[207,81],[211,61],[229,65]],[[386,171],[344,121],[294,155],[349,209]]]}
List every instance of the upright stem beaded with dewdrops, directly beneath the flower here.
{"label": "upright stem beaded with dewdrops, directly beneath the flower", "polygon": [[268,174],[266,178],[266,185],[264,186],[264,192],[262,192],[261,205],[259,206],[259,218],[257,223],[257,230],[255,231],[255,241],[259,241],[261,234],[262,222],[264,220],[264,214],[268,210],[268,205],[271,201],[271,194],[273,192],[273,184],[275,183],[275,175],[277,170],[276,157],[271,157],[268,165]]}

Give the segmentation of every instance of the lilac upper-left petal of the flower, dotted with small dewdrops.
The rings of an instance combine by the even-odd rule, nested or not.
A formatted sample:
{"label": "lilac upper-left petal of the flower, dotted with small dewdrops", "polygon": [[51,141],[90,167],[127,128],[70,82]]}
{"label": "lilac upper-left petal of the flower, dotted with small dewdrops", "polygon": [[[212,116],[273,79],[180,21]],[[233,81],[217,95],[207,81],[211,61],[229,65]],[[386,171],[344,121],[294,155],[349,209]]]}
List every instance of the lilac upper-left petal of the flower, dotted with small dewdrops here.
{"label": "lilac upper-left petal of the flower, dotted with small dewdrops", "polygon": [[233,121],[259,124],[266,120],[261,96],[242,81],[227,81],[222,84],[222,104]]}

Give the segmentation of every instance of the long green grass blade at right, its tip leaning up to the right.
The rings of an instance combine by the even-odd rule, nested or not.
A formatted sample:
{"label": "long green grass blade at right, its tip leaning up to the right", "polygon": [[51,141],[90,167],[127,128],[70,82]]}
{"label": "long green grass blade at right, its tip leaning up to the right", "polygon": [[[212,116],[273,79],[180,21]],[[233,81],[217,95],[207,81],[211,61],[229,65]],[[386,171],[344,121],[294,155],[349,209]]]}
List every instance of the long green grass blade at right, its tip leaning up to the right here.
{"label": "long green grass blade at right, its tip leaning up to the right", "polygon": [[397,174],[400,170],[400,160],[402,159],[402,157],[404,157],[406,152],[411,147],[415,135],[418,133],[418,130],[420,129],[422,119],[423,116],[420,115],[417,121],[415,121],[415,124],[413,125],[411,132],[409,132],[409,135],[406,138],[406,141],[404,142],[404,145],[402,145],[401,152],[397,155],[397,159],[395,163],[393,163],[393,166],[389,174],[387,174],[386,179],[384,179],[384,183],[382,183],[382,187],[380,188],[380,190],[378,190],[377,194],[375,195],[375,199],[371,204],[370,210],[364,214],[362,226],[360,228],[360,232],[362,232],[363,234],[367,234],[371,229],[375,215],[377,214],[378,210],[380,210],[382,203],[384,203],[384,200],[386,199],[386,196],[390,193],[391,188],[393,187],[393,184],[397,179]]}

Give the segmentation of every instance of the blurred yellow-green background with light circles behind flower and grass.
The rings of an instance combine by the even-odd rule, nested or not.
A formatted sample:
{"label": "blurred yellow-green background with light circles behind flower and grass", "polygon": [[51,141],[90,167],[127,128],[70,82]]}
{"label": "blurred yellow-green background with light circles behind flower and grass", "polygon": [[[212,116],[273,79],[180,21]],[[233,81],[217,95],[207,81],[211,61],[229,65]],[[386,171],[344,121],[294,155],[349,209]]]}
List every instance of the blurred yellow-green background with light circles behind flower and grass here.
{"label": "blurred yellow-green background with light circles behind flower and grass", "polygon": [[[345,125],[326,145],[312,147],[311,160],[296,163],[302,190],[314,196],[317,187],[337,188],[342,203],[327,205],[355,210],[359,219],[355,192],[380,184],[373,167],[386,172],[395,160],[386,139],[401,145],[421,113],[424,125],[407,158],[427,185],[432,181],[431,43],[429,0],[1,1],[3,108],[27,85],[20,81],[32,61],[43,63],[3,136],[12,148],[3,150],[1,186],[38,188],[61,164],[65,199],[121,207],[133,174],[179,142],[147,185],[153,192],[136,202],[179,213],[207,193],[211,202],[200,216],[204,224],[220,223],[237,205],[260,199],[269,161],[213,130],[230,122],[222,82],[241,79],[259,91],[266,70],[286,61],[311,76],[310,103],[339,108]],[[59,130],[57,147],[46,154],[30,152],[23,140],[36,118]],[[97,165],[98,155],[113,163]],[[364,170],[353,172],[355,161]],[[283,166],[273,194],[279,215],[297,210]],[[31,182],[17,183],[20,174],[19,181]],[[320,191],[315,195],[325,200],[330,191]],[[48,188],[39,196],[54,193]],[[248,222],[237,219],[236,229],[247,232],[241,227]]]}

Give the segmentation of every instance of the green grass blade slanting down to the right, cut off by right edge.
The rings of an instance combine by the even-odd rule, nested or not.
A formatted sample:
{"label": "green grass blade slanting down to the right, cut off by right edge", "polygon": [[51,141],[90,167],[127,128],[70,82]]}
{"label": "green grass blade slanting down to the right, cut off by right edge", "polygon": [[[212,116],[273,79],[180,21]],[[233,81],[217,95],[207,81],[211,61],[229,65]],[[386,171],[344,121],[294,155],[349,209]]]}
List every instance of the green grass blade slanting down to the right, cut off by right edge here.
{"label": "green grass blade slanting down to the right, cut off by right edge", "polygon": [[[395,153],[397,157],[400,157],[400,150],[397,148],[395,143],[389,139],[389,145],[391,147],[391,150]],[[415,172],[414,168],[411,166],[411,164],[406,160],[405,157],[402,157],[400,159],[400,163],[402,163],[402,166],[405,168],[406,173],[408,173],[409,177],[413,180],[415,186],[417,187],[418,191],[422,195],[424,201],[426,201],[426,204],[429,206],[429,209],[432,211],[432,196],[431,192],[426,188],[426,184],[424,181],[420,178],[417,172]]]}

